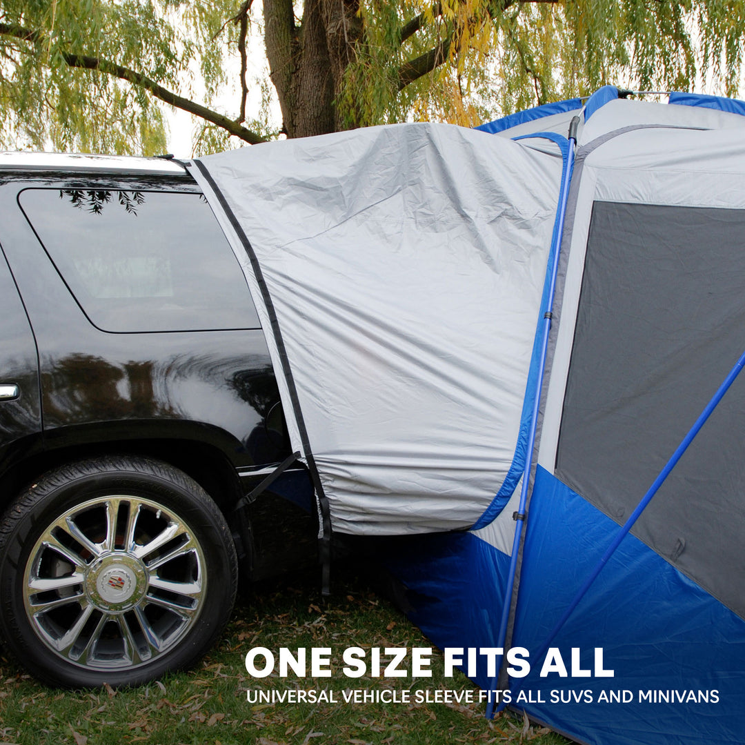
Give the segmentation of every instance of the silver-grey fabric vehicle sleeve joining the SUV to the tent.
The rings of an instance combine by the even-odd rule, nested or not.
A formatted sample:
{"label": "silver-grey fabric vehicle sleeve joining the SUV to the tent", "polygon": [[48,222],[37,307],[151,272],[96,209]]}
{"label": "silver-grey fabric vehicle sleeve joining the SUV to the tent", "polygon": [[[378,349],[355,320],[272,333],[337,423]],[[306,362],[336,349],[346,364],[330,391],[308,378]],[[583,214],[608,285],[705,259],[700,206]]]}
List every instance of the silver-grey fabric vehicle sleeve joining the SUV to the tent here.
{"label": "silver-grey fabric vehicle sleeve joining the SUV to the tent", "polygon": [[526,142],[401,124],[191,168],[290,371],[291,442],[334,530],[466,528],[505,480],[562,169]]}

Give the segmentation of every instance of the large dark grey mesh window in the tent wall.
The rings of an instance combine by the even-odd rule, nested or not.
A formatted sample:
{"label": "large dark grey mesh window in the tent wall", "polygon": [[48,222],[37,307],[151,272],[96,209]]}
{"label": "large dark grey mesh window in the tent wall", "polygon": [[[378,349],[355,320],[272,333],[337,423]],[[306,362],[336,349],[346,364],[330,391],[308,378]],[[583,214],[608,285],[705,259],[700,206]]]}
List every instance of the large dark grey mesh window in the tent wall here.
{"label": "large dark grey mesh window in the tent wall", "polygon": [[[619,524],[745,349],[745,210],[596,202],[557,477]],[[633,533],[745,617],[745,375]]]}

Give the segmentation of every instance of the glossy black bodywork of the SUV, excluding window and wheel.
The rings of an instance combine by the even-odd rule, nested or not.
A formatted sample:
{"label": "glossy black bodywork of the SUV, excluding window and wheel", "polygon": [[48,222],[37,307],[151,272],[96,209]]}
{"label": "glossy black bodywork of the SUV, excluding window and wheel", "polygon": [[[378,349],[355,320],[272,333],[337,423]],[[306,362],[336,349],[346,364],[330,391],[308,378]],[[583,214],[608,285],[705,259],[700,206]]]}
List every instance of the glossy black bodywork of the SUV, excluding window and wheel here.
{"label": "glossy black bodywork of the SUV, excluding window and wheel", "polygon": [[[127,209],[115,198],[121,193],[199,194],[186,172],[125,171],[77,172],[75,162],[70,170],[0,171],[0,245],[7,258],[7,265],[4,259],[0,265],[5,321],[0,383],[18,384],[21,392],[17,400],[0,402],[2,498],[7,503],[24,480],[75,454],[155,455],[200,482],[236,536],[244,524],[250,535],[239,548],[251,579],[314,559],[312,487],[299,467],[247,506],[248,522],[232,513],[238,498],[290,453],[255,314],[247,314],[245,328],[102,330],[52,260],[43,229],[34,224],[24,197],[34,190],[54,194],[71,215],[76,210],[91,214],[102,194],[109,200],[104,209],[110,210]],[[171,219],[162,215],[163,232],[172,228]],[[54,221],[49,223],[47,232],[54,228]],[[228,259],[244,282],[235,257]],[[247,286],[244,290],[250,303]]]}

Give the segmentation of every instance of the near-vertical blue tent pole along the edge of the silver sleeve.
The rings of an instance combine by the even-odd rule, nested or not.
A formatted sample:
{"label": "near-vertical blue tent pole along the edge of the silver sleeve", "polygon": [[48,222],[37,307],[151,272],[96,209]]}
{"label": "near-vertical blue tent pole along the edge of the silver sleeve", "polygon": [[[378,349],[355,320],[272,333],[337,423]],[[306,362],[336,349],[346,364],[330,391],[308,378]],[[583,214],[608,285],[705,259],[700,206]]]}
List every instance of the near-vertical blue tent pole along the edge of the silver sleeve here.
{"label": "near-vertical blue tent pole along the edge of the silver sleeve", "polygon": [[[541,343],[541,356],[538,364],[538,380],[536,381],[536,395],[533,402],[533,414],[530,418],[530,431],[527,437],[527,457],[525,458],[525,467],[522,472],[522,488],[520,490],[520,503],[516,513],[515,537],[513,539],[513,550],[510,557],[510,569],[507,572],[507,589],[504,593],[504,606],[502,606],[502,615],[499,623],[497,634],[497,647],[504,647],[504,640],[507,638],[507,624],[510,620],[510,606],[512,605],[513,588],[515,586],[515,574],[517,571],[517,560],[520,552],[520,541],[522,539],[522,527],[525,522],[525,505],[527,504],[527,489],[530,481],[530,470],[533,467],[533,446],[536,441],[536,425],[538,422],[538,408],[541,401],[541,388],[543,387],[543,369],[546,362],[546,351],[548,349],[548,335],[551,332],[551,310],[554,308],[554,291],[556,290],[557,273],[559,270],[559,253],[561,252],[561,239],[564,232],[564,217],[566,215],[566,203],[569,197],[569,181],[571,180],[571,171],[574,168],[574,148],[577,145],[577,127],[580,124],[580,118],[575,116],[569,125],[569,148],[566,158],[562,188],[561,201],[557,210],[557,229],[554,233],[554,264],[551,267],[551,283],[549,285],[548,297],[546,299],[545,312],[543,314],[543,337]],[[523,138],[520,138],[523,139]],[[499,666],[497,667],[499,674]],[[492,690],[496,688],[497,678],[491,681]],[[501,709],[502,707],[500,707]],[[489,696],[489,702],[486,704],[487,719],[494,716],[494,702]]]}

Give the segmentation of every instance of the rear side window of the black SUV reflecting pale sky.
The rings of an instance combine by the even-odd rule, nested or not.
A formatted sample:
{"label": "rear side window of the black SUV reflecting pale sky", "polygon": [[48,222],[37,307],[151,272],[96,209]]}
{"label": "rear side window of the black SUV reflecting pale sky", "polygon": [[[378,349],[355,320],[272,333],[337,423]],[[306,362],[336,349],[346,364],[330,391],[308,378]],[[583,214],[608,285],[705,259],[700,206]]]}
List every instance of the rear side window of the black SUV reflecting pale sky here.
{"label": "rear side window of the black SUV reflecting pale sky", "polygon": [[19,202],[99,329],[259,328],[240,264],[201,194],[29,188]]}

